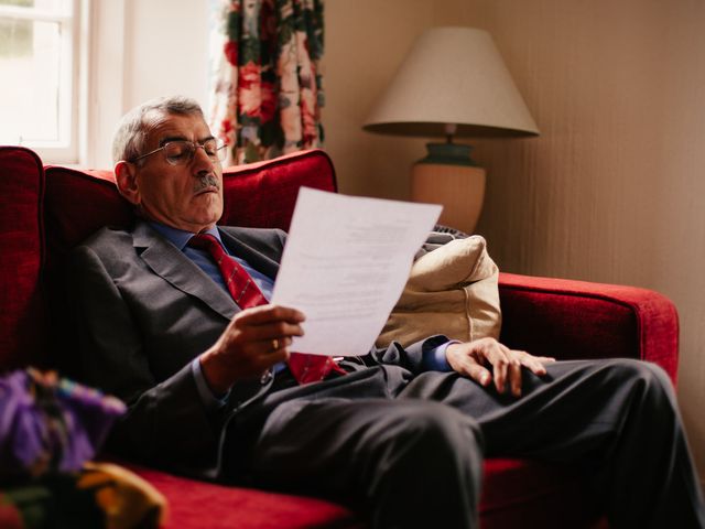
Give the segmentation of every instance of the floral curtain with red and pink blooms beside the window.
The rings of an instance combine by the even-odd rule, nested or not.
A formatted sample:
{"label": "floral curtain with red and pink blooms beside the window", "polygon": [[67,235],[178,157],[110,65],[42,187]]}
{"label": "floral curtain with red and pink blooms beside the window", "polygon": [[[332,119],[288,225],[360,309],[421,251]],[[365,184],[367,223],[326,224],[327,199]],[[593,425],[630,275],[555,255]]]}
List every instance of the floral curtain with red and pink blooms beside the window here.
{"label": "floral curtain with red and pink blooms beside the window", "polygon": [[321,147],[323,0],[213,0],[214,133],[230,163]]}

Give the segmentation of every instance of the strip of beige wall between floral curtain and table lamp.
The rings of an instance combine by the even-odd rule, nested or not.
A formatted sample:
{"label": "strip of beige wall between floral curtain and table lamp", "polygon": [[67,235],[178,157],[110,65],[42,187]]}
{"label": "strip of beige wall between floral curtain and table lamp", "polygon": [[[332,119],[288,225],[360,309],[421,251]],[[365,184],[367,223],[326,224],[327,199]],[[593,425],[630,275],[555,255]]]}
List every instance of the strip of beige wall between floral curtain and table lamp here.
{"label": "strip of beige wall between floral curtain and table lamp", "polygon": [[432,4],[417,0],[325,4],[323,122],[326,150],[344,193],[409,196],[409,165],[422,158],[424,142],[369,134],[360,127],[414,37],[429,24]]}

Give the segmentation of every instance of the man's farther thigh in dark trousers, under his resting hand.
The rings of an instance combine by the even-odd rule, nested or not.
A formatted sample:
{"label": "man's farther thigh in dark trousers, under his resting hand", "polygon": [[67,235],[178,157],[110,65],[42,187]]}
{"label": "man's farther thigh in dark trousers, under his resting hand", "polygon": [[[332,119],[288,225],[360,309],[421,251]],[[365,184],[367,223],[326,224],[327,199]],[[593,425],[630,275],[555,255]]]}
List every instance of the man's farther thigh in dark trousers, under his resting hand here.
{"label": "man's farther thigh in dark trousers, under his resting hand", "polygon": [[670,382],[651,364],[629,359],[571,360],[546,365],[543,377],[524,370],[522,396],[482,388],[456,374],[422,374],[400,398],[437,400],[475,419],[488,456],[571,461],[599,450],[623,421],[634,384]]}

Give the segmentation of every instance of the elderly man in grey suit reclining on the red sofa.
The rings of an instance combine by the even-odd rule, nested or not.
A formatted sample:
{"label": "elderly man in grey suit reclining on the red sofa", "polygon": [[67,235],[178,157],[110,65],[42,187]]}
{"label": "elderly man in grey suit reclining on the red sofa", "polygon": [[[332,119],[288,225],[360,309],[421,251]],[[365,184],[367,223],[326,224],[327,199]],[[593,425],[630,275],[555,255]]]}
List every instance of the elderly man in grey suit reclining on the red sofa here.
{"label": "elderly man in grey suit reclining on the red sofa", "polygon": [[[705,527],[660,368],[430,336],[335,363],[268,304],[285,234],[219,227],[221,144],[197,104],[128,114],[115,173],[138,219],[74,252],[84,379],[129,412],[113,446],[203,477],[355,501],[371,527],[477,527],[486,455],[579,461],[614,527]],[[188,465],[187,465],[188,464]]]}

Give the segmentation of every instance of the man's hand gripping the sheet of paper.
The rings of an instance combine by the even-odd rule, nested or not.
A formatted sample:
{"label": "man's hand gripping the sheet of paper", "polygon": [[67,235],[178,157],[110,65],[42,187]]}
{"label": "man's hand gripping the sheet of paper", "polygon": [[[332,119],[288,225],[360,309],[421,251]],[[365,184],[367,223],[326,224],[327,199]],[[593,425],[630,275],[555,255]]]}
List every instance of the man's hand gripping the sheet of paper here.
{"label": "man's hand gripping the sheet of paper", "polygon": [[218,341],[203,355],[200,368],[216,393],[237,380],[259,377],[289,358],[293,336],[303,336],[304,315],[281,305],[260,305],[236,314]]}

